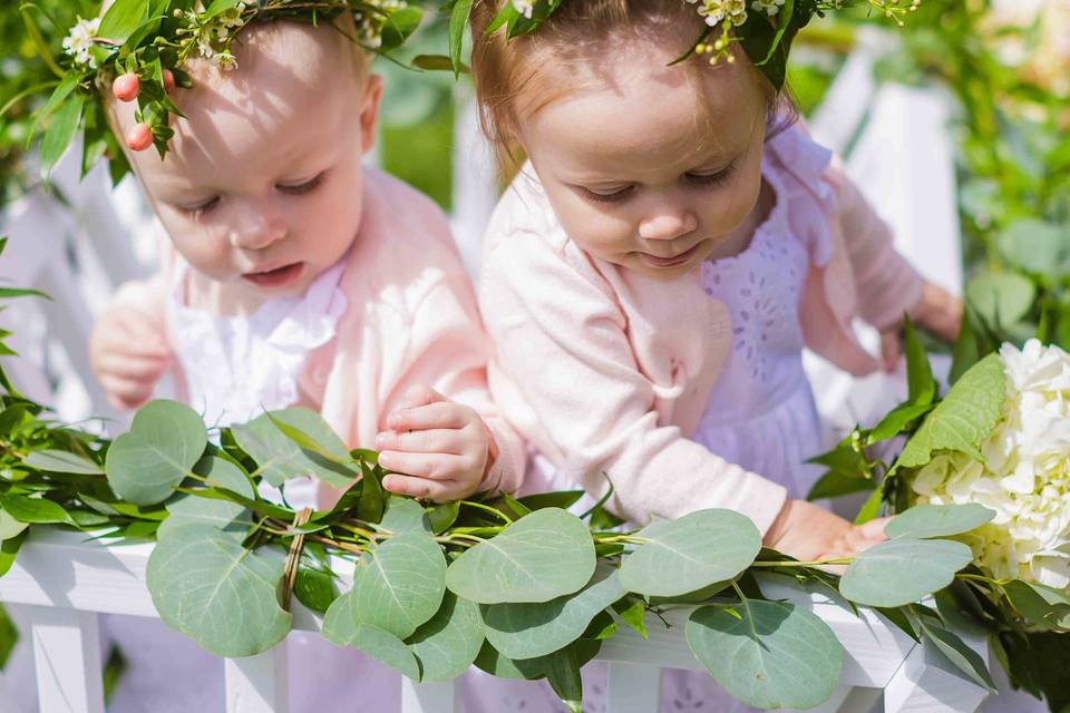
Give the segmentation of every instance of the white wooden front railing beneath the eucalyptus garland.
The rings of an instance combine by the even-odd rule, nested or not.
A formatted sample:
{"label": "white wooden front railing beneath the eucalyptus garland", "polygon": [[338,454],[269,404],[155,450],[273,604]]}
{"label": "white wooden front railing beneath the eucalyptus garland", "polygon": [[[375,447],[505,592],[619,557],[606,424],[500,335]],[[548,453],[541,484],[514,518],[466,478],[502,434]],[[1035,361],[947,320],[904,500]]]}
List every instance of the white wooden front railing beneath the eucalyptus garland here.
{"label": "white wooden front railing beneath the eucalyptus garland", "polygon": [[[103,713],[97,616],[156,616],[145,587],[152,547],[87,541],[71,533],[33,534],[14,567],[0,578],[0,600],[30,624],[41,711]],[[334,563],[339,573],[347,566]],[[348,575],[342,579],[348,586]],[[955,673],[927,644],[917,644],[873,612],[855,616],[846,603],[786,582],[775,576],[760,580],[766,596],[788,599],[820,616],[846,653],[839,687],[818,711],[863,712],[881,705],[886,713],[970,713],[981,704],[984,690]],[[669,613],[672,628],[651,616],[648,641],[621,626],[605,643],[599,658],[609,662],[609,713],[656,711],[662,667],[701,668],[683,639],[687,616],[685,611]],[[318,631],[319,624],[318,616],[294,603],[294,628]],[[986,655],[983,639],[966,641]],[[259,656],[221,662],[227,713],[289,710],[285,651],[280,645]],[[455,684],[412,684],[402,678],[401,686],[402,713],[460,712]]]}

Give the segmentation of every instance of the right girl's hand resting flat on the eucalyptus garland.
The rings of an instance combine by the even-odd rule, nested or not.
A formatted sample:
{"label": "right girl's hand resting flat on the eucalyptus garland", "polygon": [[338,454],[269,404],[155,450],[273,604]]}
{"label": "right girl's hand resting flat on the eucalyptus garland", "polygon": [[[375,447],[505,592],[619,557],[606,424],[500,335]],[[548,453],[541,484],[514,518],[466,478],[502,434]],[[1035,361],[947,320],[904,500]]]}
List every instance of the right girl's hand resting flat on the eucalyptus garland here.
{"label": "right girl's hand resting flat on the eucalyptus garland", "polygon": [[[852,525],[838,515],[806,500],[788,500],[762,544],[801,561],[852,557],[887,539],[888,518]],[[843,567],[825,567],[842,573]]]}

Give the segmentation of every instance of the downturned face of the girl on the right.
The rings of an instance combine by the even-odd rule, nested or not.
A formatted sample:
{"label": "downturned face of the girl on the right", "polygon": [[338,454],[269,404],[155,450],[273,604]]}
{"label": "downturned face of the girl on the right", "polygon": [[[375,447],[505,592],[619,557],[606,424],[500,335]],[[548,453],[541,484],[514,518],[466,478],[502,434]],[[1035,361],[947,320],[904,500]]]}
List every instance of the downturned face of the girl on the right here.
{"label": "downturned face of the girl on the right", "polygon": [[[737,242],[761,188],[767,110],[750,68],[726,64],[696,81],[672,59],[655,42],[607,43],[590,78],[519,131],[568,236],[664,279]],[[568,82],[575,68],[556,71]]]}

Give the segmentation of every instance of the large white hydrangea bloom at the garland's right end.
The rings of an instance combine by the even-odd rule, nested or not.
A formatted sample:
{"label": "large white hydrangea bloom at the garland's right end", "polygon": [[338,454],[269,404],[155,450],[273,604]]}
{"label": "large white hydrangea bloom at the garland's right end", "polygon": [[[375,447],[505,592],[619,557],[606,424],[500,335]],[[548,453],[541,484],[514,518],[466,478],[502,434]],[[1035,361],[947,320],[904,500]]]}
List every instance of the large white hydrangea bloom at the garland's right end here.
{"label": "large white hydrangea bloom at the garland's right end", "polygon": [[972,533],[998,578],[1070,587],[1070,354],[1031,340],[1000,350],[1008,378],[999,424],[981,452],[937,456],[915,478],[920,502],[977,502],[995,518]]}

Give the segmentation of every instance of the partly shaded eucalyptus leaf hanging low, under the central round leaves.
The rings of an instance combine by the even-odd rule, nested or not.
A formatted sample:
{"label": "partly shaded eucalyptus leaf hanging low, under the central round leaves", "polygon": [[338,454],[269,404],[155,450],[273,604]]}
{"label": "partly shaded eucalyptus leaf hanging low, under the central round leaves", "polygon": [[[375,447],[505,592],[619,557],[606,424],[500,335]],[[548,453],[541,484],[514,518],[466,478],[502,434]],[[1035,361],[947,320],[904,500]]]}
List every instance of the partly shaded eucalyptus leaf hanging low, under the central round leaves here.
{"label": "partly shaded eucalyptus leaf hanging low, under the central round leaves", "polygon": [[479,654],[484,636],[479,605],[447,592],[438,613],[409,638],[409,648],[420,662],[420,681],[453,681],[465,673]]}

